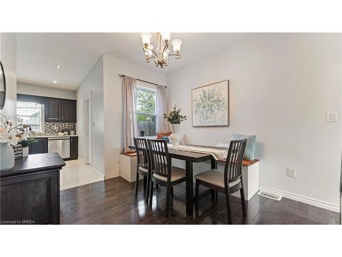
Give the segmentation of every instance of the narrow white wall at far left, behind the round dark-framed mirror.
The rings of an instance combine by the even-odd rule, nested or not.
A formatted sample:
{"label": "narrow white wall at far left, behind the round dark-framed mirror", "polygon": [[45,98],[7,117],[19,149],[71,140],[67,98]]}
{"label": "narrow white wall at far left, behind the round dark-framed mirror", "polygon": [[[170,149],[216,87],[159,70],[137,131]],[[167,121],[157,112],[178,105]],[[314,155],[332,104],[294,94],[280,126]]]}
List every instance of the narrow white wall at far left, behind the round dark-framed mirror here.
{"label": "narrow white wall at far left, behind the round dark-framed mirror", "polygon": [[1,114],[16,123],[16,34],[1,33],[0,60],[6,79],[6,100]]}

